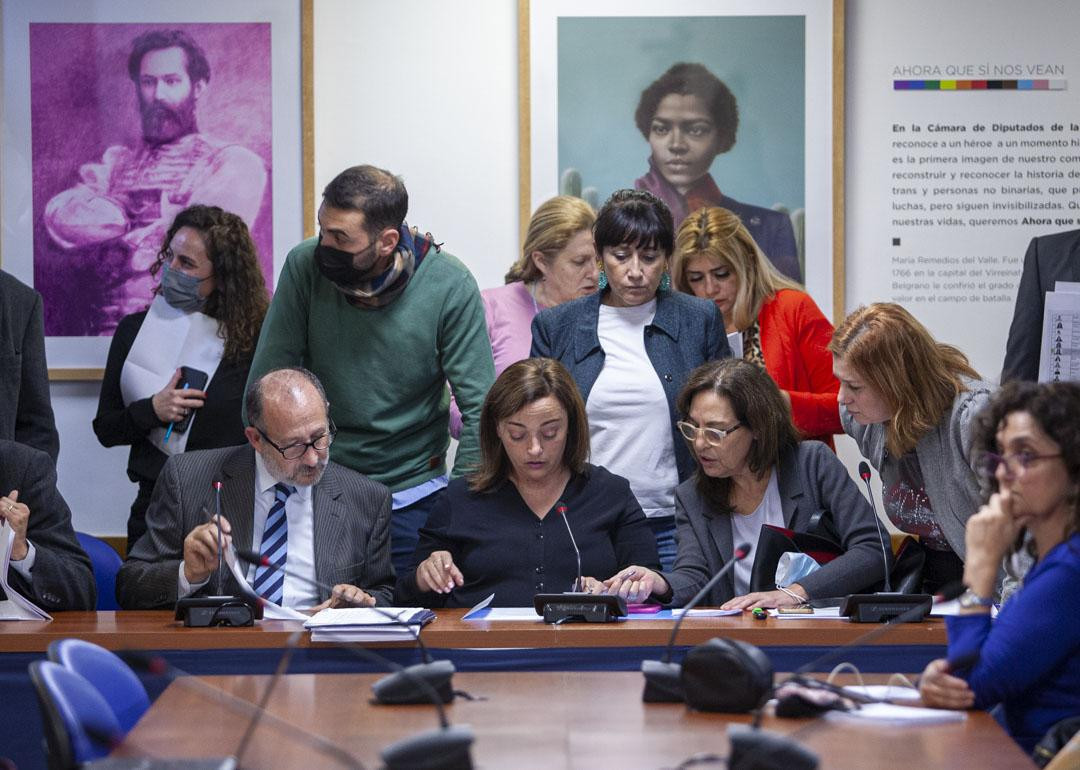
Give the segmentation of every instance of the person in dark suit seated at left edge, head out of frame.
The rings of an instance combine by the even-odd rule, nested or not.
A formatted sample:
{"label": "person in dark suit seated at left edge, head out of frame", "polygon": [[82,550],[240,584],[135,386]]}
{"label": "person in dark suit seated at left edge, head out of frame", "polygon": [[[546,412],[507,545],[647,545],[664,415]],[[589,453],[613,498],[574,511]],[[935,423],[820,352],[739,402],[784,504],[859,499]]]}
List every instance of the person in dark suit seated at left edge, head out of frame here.
{"label": "person in dark suit seated at left edge, head out of frame", "polygon": [[49,455],[0,438],[0,524],[15,532],[8,584],[46,612],[94,609],[90,557],[76,540]]}

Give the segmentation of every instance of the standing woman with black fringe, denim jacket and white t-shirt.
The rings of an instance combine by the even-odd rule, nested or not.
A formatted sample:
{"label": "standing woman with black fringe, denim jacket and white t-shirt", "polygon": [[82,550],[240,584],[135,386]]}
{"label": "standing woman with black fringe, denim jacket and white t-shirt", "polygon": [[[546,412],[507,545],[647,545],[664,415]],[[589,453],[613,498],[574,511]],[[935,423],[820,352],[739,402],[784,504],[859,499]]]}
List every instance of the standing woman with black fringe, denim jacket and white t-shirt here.
{"label": "standing woman with black fringe, denim jacket and white t-shirt", "polygon": [[690,372],[731,349],[716,305],[671,291],[675,226],[663,201],[618,190],[593,240],[599,293],[541,311],[531,355],[569,369],[585,401],[593,462],[630,481],[671,569],[675,487],[693,472],[675,398]]}

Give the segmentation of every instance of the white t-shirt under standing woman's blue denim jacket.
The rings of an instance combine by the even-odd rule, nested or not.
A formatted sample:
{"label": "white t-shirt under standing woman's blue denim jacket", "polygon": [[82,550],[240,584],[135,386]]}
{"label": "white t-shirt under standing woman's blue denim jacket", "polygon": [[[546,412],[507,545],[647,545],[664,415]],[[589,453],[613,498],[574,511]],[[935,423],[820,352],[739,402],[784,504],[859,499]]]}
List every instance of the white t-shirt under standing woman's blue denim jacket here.
{"label": "white t-shirt under standing woman's blue denim jacket", "polygon": [[645,327],[657,300],[634,308],[600,306],[596,334],[604,368],[585,411],[592,458],[630,482],[646,516],[675,515],[675,446],[660,376],[645,352]]}

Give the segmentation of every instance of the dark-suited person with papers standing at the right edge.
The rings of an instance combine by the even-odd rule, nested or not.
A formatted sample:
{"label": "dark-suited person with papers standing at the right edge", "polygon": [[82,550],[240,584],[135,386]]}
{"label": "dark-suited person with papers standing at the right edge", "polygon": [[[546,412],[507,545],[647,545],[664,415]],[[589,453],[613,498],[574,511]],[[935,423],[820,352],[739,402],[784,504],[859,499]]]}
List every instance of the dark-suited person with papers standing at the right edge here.
{"label": "dark-suited person with papers standing at the right edge", "polygon": [[1080,230],[1031,239],[1016,289],[1002,382],[1039,379],[1043,302],[1058,281],[1080,281]]}

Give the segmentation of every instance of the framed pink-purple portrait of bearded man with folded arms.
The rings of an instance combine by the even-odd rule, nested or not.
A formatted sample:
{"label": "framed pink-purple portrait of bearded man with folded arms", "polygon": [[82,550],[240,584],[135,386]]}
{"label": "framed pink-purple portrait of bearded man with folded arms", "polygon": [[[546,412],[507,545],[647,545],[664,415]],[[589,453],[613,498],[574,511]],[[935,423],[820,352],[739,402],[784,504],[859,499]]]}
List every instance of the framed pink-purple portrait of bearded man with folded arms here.
{"label": "framed pink-purple portrait of bearded man with folded arms", "polygon": [[188,205],[240,215],[272,288],[303,229],[300,21],[298,0],[3,4],[0,266],[42,295],[54,377],[104,366]]}

